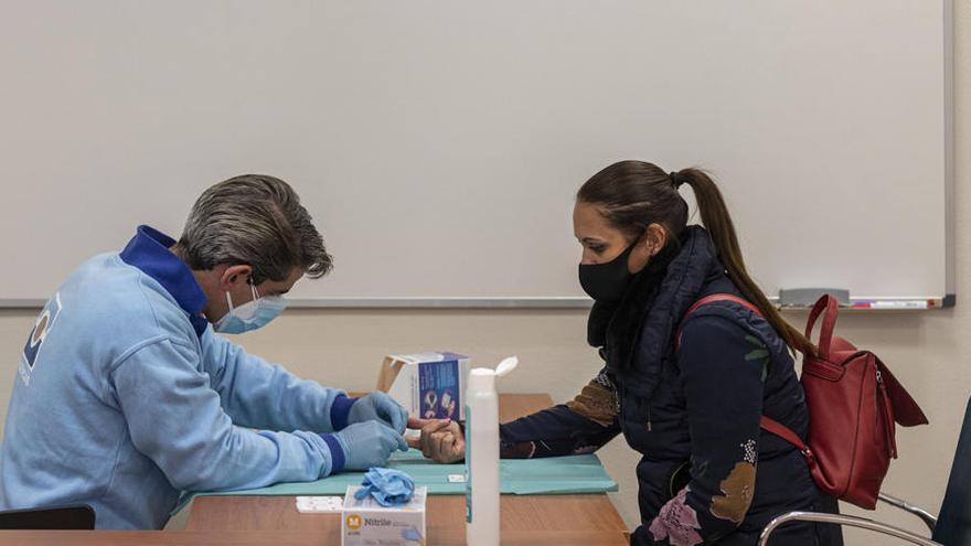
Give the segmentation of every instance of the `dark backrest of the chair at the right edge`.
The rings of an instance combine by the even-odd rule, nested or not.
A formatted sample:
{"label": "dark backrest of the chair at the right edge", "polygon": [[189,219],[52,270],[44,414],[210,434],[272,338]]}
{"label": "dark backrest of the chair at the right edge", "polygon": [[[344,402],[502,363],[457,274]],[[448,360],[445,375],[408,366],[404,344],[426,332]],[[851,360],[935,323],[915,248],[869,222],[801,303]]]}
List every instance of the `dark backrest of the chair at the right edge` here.
{"label": "dark backrest of the chair at the right edge", "polygon": [[933,539],[947,546],[971,546],[971,399],[964,410],[964,424],[958,437]]}

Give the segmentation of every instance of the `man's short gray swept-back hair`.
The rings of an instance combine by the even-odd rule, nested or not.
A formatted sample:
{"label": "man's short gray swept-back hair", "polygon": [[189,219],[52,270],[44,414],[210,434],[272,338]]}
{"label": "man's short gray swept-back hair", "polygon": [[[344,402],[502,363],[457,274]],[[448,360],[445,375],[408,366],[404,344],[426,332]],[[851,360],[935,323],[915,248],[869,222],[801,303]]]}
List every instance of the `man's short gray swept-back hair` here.
{"label": "man's short gray swept-back hair", "polygon": [[195,270],[249,265],[254,285],[285,280],[295,267],[316,279],[333,268],[333,258],[311,220],[282,180],[243,174],[200,195],[177,251]]}

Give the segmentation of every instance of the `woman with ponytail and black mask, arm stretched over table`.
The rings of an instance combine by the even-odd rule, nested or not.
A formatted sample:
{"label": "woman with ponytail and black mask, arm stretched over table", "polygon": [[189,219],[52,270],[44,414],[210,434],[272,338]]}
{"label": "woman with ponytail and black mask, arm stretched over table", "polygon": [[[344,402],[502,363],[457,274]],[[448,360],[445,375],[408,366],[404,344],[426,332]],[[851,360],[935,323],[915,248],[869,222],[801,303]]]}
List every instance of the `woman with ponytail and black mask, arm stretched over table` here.
{"label": "woman with ponytail and black mask, arm stretched over table", "polygon": [[[704,227],[687,225],[684,185]],[[802,454],[759,428],[767,416],[804,438],[809,414],[792,353],[814,347],[749,276],[715,182],[697,169],[615,163],[577,192],[574,231],[579,281],[595,301],[587,338],[602,368],[567,404],[502,425],[502,457],[590,452],[623,433],[642,454],[642,525],[631,544],[755,545],[780,514],[832,511]],[[759,312],[715,301],[685,319],[716,293]],[[457,424],[423,425],[426,456],[461,459]],[[822,525],[781,531],[773,544],[842,544]]]}

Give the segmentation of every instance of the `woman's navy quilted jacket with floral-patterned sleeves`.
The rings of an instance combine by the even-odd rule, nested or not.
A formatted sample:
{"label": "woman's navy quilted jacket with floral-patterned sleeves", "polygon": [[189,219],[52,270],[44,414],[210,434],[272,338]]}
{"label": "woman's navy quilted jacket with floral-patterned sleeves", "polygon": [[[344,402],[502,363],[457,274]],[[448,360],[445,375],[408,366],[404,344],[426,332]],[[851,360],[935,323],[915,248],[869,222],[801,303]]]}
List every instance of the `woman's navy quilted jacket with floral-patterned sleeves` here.
{"label": "woman's navy quilted jacket with floral-patterned sleeves", "polygon": [[[643,456],[633,544],[756,544],[772,517],[818,507],[801,453],[759,429],[765,415],[805,437],[792,356],[768,322],[732,302],[695,311],[675,350],[689,307],[738,290],[701,227],[652,263],[661,267],[649,265],[606,312],[606,366],[572,402],[503,425],[502,456],[590,452],[622,432]],[[811,524],[782,527],[772,542],[818,544]]]}

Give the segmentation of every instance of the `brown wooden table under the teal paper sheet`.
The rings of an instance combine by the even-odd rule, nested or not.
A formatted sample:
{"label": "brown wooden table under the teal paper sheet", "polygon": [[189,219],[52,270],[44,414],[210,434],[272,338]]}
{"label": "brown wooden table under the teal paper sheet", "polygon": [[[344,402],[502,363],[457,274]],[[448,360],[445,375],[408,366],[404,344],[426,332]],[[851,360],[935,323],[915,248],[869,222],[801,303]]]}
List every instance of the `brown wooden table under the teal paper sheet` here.
{"label": "brown wooden table under the teal paper sheet", "polygon": [[[547,395],[501,395],[500,419],[548,407]],[[606,494],[502,495],[502,543],[511,545],[623,545],[627,527]],[[428,545],[466,542],[465,497],[433,495],[427,504]],[[202,496],[185,531],[0,532],[0,545],[207,544],[305,546],[341,542],[339,514],[300,514],[292,496]]]}

